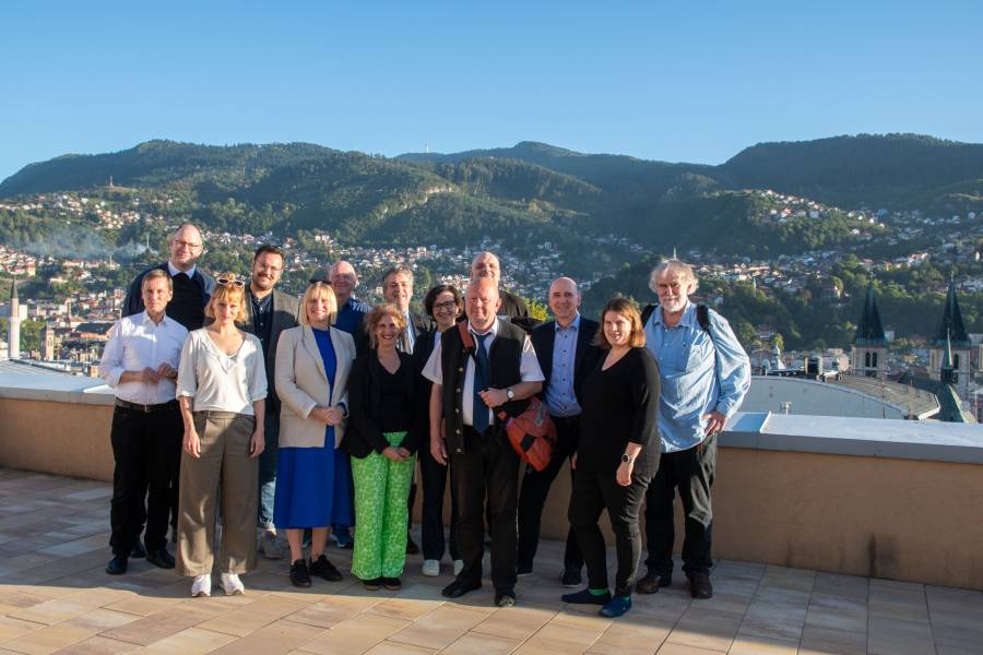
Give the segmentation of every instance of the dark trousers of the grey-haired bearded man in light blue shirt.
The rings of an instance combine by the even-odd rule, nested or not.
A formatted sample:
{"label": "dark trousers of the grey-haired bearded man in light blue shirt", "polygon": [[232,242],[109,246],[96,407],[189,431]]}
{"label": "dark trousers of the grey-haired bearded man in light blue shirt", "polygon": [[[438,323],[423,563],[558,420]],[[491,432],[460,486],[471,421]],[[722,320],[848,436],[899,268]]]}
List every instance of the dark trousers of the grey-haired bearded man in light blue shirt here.
{"label": "dark trousers of the grey-haired bearded man in light blue shirt", "polygon": [[649,558],[646,564],[656,575],[673,572],[675,516],[673,502],[676,489],[686,514],[686,536],[683,539],[683,572],[709,573],[713,511],[710,487],[716,473],[716,436],[708,437],[697,446],[674,453],[662,453],[659,473],[652,478],[646,495],[646,540]]}

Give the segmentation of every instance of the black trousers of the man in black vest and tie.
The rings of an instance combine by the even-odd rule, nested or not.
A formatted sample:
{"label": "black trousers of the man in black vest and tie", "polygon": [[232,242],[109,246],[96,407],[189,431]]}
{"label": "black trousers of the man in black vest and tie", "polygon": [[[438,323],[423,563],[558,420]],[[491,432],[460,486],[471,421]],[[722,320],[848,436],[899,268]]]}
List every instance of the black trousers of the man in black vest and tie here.
{"label": "black trousers of the man in black vest and tie", "polygon": [[451,483],[458,492],[458,553],[464,568],[458,580],[481,583],[485,555],[485,498],[492,535],[492,583],[500,592],[516,586],[516,528],[519,455],[502,431],[478,434],[464,427],[464,452],[451,455]]}

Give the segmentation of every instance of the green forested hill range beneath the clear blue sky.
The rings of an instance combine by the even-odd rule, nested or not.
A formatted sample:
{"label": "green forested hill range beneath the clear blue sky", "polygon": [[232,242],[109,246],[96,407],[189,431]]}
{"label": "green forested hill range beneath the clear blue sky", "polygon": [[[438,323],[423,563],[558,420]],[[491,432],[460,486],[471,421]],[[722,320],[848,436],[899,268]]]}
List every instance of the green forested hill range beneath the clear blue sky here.
{"label": "green forested hill range beneath the clear blue sky", "polygon": [[[449,246],[479,234],[509,248],[548,241],[569,253],[623,238],[662,251],[769,257],[846,249],[876,237],[871,233],[877,228],[858,230],[856,221],[832,207],[820,207],[818,219],[806,211],[781,214],[787,202],[781,205],[763,190],[843,210],[980,212],[983,145],[917,135],[837,136],[759,144],[708,166],[534,142],[386,158],[308,143],[150,141],[28,165],[0,182],[0,198],[106,192],[110,179],[116,193],[166,190],[175,196],[169,219],[232,233],[320,229],[346,241]],[[45,225],[58,223],[57,215],[47,219]],[[47,228],[32,221],[0,215],[0,241],[4,234],[43,235]]]}

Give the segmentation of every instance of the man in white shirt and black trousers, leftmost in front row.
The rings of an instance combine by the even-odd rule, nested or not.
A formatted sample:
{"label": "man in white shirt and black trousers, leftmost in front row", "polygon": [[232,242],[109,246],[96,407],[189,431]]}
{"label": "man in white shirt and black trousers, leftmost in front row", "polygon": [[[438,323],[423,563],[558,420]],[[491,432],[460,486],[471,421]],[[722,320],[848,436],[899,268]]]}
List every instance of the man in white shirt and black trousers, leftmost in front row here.
{"label": "man in white shirt and black trousers, leftmost in front row", "polygon": [[149,271],[141,282],[145,309],[117,321],[99,362],[99,377],[116,389],[110,431],[116,460],[109,510],[112,559],[106,567],[110,575],[127,572],[144,520],[147,561],[174,568],[166,548],[167,519],[183,432],[175,380],[188,331],[165,314],[173,296],[168,272]]}

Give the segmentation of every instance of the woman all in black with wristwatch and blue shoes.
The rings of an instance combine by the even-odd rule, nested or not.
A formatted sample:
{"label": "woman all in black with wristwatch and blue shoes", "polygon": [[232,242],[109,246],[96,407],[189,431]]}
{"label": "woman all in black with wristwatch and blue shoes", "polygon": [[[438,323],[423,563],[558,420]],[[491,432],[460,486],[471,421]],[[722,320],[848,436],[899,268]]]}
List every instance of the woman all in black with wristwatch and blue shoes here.
{"label": "woman all in black with wristwatch and blue shoes", "polygon": [[[603,616],[619,617],[631,609],[641,553],[638,515],[659,469],[659,366],[646,348],[641,317],[625,298],[605,306],[594,343],[607,356],[583,381],[569,510],[588,568],[588,588],[562,599],[603,605]],[[607,586],[604,536],[597,526],[605,509],[618,556],[614,596]]]}

